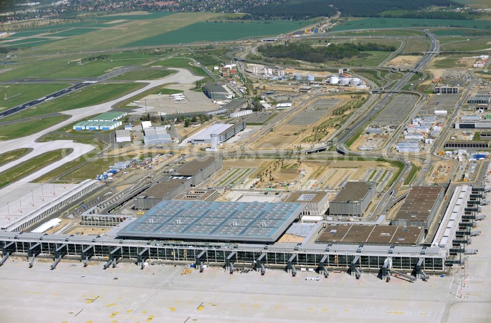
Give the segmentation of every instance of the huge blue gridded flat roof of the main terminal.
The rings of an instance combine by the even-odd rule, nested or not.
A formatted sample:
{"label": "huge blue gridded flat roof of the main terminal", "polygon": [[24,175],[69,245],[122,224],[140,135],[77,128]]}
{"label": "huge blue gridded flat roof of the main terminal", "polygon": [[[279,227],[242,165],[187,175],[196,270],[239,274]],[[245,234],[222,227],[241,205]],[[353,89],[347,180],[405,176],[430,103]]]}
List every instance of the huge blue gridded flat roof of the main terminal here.
{"label": "huge blue gridded flat roof of the main terminal", "polygon": [[304,208],[297,203],[162,201],[118,236],[274,242]]}

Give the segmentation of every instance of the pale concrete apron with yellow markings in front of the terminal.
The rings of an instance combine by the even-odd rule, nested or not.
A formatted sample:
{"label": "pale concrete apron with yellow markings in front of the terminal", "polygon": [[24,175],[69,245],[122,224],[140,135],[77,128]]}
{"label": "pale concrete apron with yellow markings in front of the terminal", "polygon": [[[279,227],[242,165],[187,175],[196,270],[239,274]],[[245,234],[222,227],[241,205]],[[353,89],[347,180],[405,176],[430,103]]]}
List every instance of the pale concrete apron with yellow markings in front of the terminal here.
{"label": "pale concrete apron with yellow markings in front of the terminal", "polygon": [[[485,212],[490,211],[487,206]],[[96,261],[86,268],[63,261],[51,271],[52,260],[37,259],[29,269],[25,259],[13,258],[0,268],[0,286],[8,291],[0,293],[0,313],[4,322],[50,323],[491,322],[491,252],[484,248],[490,221],[480,222],[484,234],[473,238],[479,253],[470,256],[463,298],[464,269],[443,278],[431,275],[427,282],[393,277],[386,283],[369,273],[359,280],[331,273],[306,281],[318,275],[300,270],[297,277],[280,270],[229,274],[220,268],[182,275],[179,265],[140,270],[121,263],[103,270]]]}

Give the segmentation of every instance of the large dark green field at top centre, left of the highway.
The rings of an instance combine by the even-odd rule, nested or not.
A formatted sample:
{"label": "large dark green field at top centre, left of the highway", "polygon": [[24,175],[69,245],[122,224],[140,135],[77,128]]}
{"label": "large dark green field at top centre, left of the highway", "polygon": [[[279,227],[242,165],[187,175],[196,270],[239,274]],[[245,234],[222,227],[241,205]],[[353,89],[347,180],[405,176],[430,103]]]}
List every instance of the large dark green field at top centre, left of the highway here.
{"label": "large dark green field at top centre, left of the highway", "polygon": [[[273,21],[273,22],[200,22],[180,29],[141,39],[127,46],[155,46],[186,44],[195,42],[215,42],[235,40],[245,37],[272,36],[300,29],[311,21]],[[199,30],[199,32],[197,32]]]}

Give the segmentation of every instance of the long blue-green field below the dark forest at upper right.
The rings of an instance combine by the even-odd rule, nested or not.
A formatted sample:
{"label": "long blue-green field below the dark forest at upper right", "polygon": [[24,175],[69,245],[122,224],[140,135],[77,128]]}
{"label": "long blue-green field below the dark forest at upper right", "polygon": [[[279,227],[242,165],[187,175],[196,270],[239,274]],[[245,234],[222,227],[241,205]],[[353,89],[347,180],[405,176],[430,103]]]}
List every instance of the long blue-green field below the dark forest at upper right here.
{"label": "long blue-green field below the dark forest at upper right", "polygon": [[364,18],[347,21],[332,28],[336,30],[371,28],[410,28],[410,27],[467,27],[485,29],[489,20],[451,20],[451,19],[407,19],[407,18]]}

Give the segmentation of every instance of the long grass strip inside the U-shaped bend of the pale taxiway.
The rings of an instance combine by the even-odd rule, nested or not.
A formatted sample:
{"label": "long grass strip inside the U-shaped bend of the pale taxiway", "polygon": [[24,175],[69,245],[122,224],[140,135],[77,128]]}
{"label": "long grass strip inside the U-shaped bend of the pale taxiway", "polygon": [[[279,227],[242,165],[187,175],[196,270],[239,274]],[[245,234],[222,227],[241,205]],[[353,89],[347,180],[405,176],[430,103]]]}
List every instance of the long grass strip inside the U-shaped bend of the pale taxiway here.
{"label": "long grass strip inside the U-shaped bend of the pale taxiway", "polygon": [[72,152],[72,149],[57,149],[45,152],[15,167],[0,173],[0,187],[32,174]]}

